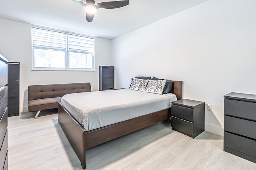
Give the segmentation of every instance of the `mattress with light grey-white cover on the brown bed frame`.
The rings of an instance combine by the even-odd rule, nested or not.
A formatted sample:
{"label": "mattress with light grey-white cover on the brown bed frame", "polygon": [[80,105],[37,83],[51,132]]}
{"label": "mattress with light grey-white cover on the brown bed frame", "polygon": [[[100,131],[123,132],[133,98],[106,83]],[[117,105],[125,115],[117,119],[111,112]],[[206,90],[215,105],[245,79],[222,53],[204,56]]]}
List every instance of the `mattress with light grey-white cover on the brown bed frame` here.
{"label": "mattress with light grey-white cover on the brown bed frame", "polygon": [[66,94],[62,105],[90,131],[162,109],[176,101],[174,94],[154,94],[120,89]]}

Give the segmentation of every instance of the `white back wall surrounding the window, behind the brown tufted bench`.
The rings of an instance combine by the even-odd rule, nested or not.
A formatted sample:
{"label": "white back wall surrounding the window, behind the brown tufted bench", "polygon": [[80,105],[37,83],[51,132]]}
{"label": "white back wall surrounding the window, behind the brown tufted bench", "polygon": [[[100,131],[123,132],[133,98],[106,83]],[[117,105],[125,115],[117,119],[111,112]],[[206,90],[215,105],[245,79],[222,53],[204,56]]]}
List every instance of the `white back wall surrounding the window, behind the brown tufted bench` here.
{"label": "white back wall surrounding the window, behind the brown tufted bench", "polygon": [[98,90],[98,66],[112,65],[111,41],[95,38],[95,71],[32,71],[31,25],[0,18],[0,54],[10,62],[20,62],[20,112],[28,111],[28,86],[90,82]]}

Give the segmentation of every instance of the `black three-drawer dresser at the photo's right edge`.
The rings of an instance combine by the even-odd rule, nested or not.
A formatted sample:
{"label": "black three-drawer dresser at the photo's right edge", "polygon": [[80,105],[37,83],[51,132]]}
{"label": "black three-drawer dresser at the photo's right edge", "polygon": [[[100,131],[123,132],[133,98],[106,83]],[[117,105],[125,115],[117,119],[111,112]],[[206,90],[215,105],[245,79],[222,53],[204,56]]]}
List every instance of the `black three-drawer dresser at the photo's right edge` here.
{"label": "black three-drawer dresser at the photo's right edge", "polygon": [[224,96],[224,151],[256,163],[256,95]]}

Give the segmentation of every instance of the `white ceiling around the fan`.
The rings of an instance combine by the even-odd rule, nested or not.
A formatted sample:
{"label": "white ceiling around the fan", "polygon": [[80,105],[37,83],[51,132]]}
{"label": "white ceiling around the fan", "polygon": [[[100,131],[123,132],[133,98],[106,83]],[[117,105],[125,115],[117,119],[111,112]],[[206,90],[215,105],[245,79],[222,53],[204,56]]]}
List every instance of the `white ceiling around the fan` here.
{"label": "white ceiling around the fan", "polygon": [[89,23],[84,7],[72,0],[0,0],[0,18],[114,39],[206,1],[130,0],[122,8],[98,9]]}

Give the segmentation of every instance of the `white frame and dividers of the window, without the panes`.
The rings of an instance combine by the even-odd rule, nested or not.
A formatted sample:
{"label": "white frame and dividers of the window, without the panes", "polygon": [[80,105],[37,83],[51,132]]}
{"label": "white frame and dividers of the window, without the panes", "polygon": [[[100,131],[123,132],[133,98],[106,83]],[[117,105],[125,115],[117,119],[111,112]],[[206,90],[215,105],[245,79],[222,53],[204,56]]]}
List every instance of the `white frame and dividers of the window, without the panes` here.
{"label": "white frame and dividers of the window, without the panes", "polygon": [[[55,49],[55,48],[47,48],[47,47],[34,47],[34,38],[33,38],[33,28],[36,29],[44,29],[47,31],[55,31],[55,32],[59,32],[59,33],[65,33],[66,34],[66,50],[60,50],[60,49]],[[87,37],[87,38],[91,38],[93,39],[93,51],[90,52],[82,52],[82,51],[75,51],[75,50],[69,50],[69,44],[68,44],[68,35],[76,35],[79,37]],[[45,70],[45,71],[95,71],[95,38],[92,36],[88,36],[88,35],[83,35],[83,34],[79,34],[79,33],[73,33],[73,32],[68,32],[68,31],[62,31],[62,30],[58,30],[58,29],[52,29],[52,28],[48,28],[48,27],[40,27],[40,26],[36,26],[36,25],[32,25],[31,27],[31,40],[32,40],[32,68],[31,70]],[[65,68],[51,68],[51,67],[35,67],[35,49],[45,49],[45,50],[54,50],[54,51],[64,51],[65,53]],[[82,54],[90,54],[92,55],[92,68],[69,68],[69,53],[82,53]]]}

